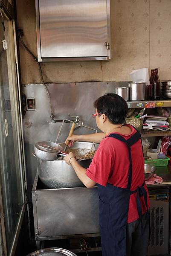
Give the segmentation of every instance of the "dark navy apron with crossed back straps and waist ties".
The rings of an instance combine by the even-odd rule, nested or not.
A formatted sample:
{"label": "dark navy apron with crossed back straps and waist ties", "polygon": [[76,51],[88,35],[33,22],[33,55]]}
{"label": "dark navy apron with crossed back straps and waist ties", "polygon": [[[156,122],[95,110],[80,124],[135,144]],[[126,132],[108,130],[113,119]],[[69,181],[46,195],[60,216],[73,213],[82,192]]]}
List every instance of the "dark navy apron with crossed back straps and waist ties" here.
{"label": "dark navy apron with crossed back straps and waist ties", "polygon": [[[129,149],[129,176],[127,188],[120,188],[107,183],[107,186],[98,186],[99,193],[99,222],[101,232],[101,244],[103,256],[125,256],[126,255],[126,228],[128,221],[128,210],[130,195],[137,192],[136,204],[139,213],[139,219],[142,222],[142,209],[140,197],[144,196],[145,204],[148,209],[147,192],[144,188],[145,181],[142,186],[131,191],[132,181],[132,160],[131,146],[141,139],[138,131],[133,134],[128,140],[125,140],[119,134],[110,134],[107,137],[112,137],[126,143]],[[107,138],[106,137],[106,138]],[[105,138],[104,138],[105,139]],[[147,210],[148,215],[148,210]],[[143,228],[142,228],[143,232]]]}

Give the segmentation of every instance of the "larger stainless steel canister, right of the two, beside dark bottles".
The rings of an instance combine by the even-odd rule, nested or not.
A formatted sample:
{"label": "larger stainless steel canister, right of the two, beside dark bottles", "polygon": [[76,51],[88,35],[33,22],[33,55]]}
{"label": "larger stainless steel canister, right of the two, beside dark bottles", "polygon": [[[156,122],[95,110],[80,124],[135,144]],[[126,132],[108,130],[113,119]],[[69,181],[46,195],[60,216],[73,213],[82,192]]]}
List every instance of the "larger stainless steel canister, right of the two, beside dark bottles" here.
{"label": "larger stainless steel canister, right of the two, beside dark bottles", "polygon": [[130,100],[145,100],[145,83],[128,83]]}

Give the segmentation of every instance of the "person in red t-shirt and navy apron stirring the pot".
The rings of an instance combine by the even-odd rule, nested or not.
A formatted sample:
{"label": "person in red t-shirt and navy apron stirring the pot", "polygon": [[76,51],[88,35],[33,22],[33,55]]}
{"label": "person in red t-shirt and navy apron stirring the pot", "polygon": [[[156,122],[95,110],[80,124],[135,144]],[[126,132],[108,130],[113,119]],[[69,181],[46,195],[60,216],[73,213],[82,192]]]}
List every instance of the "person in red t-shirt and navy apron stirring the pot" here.
{"label": "person in red t-shirt and navy apron stirring the pot", "polygon": [[102,133],[72,135],[74,141],[100,143],[89,168],[70,152],[65,157],[88,188],[97,184],[103,256],[147,256],[149,195],[144,181],[141,136],[123,125],[128,105],[109,93],[94,102],[96,124]]}

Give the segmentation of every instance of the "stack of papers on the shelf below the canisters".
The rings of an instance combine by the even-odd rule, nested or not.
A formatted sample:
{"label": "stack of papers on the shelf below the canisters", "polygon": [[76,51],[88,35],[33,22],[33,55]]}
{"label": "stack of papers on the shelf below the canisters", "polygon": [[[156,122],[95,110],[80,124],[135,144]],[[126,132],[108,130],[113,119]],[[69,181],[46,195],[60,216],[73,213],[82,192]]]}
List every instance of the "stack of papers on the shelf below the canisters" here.
{"label": "stack of papers on the shelf below the canisters", "polygon": [[168,126],[169,123],[166,120],[167,120],[167,116],[147,116],[144,119],[143,129],[148,131],[171,130],[171,128]]}

